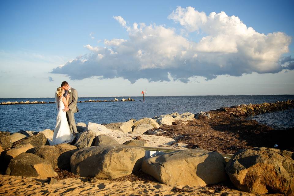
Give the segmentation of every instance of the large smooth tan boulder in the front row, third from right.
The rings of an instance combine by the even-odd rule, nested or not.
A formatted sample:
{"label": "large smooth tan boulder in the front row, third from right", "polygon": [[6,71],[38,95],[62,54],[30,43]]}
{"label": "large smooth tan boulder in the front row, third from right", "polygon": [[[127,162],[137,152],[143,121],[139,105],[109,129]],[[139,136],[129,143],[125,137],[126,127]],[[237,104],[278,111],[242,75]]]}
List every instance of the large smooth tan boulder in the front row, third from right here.
{"label": "large smooth tan boulder in the front row, third from right", "polygon": [[81,177],[115,179],[141,168],[145,150],[135,146],[92,146],[70,158],[71,171]]}

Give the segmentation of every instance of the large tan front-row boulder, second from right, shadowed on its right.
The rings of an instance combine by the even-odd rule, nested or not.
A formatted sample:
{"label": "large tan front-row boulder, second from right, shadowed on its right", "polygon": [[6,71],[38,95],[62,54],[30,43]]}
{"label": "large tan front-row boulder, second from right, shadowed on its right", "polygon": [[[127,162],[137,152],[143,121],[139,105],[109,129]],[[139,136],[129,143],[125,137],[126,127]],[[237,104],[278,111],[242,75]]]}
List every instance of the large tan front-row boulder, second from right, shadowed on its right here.
{"label": "large tan front-row boulder, second from right, shadowed on its right", "polygon": [[225,164],[219,153],[190,149],[145,159],[142,171],[167,185],[205,186],[227,179]]}

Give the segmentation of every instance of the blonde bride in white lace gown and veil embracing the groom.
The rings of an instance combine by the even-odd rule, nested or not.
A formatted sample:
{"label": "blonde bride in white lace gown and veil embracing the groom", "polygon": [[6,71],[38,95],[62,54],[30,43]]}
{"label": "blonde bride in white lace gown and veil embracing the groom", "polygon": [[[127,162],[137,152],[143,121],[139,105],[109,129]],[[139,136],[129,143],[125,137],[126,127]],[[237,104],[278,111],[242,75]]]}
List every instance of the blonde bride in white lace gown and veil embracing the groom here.
{"label": "blonde bride in white lace gown and veil embracing the groom", "polygon": [[68,106],[68,100],[70,94],[67,94],[66,98],[63,96],[64,89],[58,87],[55,92],[55,101],[57,106],[57,118],[56,126],[54,129],[53,139],[50,141],[50,145],[61,144],[65,142],[70,142],[74,140],[74,134],[70,131],[70,126],[68,125],[66,112],[62,111]]}

